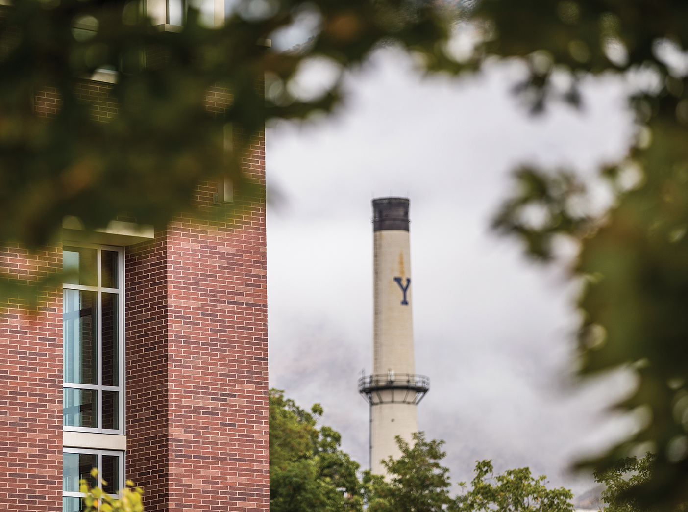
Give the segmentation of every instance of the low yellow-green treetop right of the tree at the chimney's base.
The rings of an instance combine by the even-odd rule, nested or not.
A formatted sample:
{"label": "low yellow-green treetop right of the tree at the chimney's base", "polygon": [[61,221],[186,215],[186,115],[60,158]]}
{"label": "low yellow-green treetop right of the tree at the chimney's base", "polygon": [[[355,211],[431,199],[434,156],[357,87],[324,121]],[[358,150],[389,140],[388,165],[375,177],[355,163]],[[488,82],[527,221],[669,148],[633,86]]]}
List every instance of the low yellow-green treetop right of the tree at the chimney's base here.
{"label": "low yellow-green treetop right of the tree at the chimney's base", "polygon": [[491,461],[483,460],[475,466],[473,488],[458,495],[449,511],[573,512],[571,491],[563,487],[547,489],[546,480],[546,476],[533,478],[527,467],[508,469],[502,475],[493,476]]}

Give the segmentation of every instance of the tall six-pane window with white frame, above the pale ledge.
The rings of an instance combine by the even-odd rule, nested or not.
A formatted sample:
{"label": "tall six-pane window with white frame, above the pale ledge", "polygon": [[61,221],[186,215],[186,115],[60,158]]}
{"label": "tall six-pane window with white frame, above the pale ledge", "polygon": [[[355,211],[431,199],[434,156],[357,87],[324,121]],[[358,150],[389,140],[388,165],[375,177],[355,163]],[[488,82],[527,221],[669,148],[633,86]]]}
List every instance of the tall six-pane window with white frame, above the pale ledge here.
{"label": "tall six-pane window with white frame, above the pale ledge", "polygon": [[63,429],[124,434],[122,249],[63,247]]}

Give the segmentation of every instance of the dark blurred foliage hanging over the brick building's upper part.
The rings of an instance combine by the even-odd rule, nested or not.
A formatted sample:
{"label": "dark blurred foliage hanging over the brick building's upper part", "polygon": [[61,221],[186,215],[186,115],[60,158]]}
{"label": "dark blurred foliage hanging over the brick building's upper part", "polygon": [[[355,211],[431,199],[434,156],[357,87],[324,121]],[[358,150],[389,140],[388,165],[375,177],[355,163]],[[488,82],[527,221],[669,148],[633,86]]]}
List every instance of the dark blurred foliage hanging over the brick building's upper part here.
{"label": "dark blurred foliage hanging over the brick building's upper part", "polygon": [[[255,2],[269,8],[255,14]],[[122,213],[164,225],[189,208],[201,179],[245,182],[237,159],[267,118],[333,107],[338,81],[316,97],[290,93],[302,61],[321,56],[343,70],[391,37],[440,56],[434,45],[446,36],[432,6],[407,0],[246,0],[222,28],[204,25],[189,2],[184,26],[173,31],[153,26],[141,5],[12,0],[0,6],[0,239],[36,248],[57,238],[65,215],[87,229]],[[308,49],[266,48],[264,41],[304,9],[320,26]],[[106,122],[92,115],[101,98],[76,94],[103,69],[118,72],[109,92],[117,111]],[[233,100],[224,111],[210,111],[206,93],[218,85]],[[56,114],[41,117],[35,98],[47,87],[61,103]],[[234,151],[223,150],[226,126],[237,139]]]}

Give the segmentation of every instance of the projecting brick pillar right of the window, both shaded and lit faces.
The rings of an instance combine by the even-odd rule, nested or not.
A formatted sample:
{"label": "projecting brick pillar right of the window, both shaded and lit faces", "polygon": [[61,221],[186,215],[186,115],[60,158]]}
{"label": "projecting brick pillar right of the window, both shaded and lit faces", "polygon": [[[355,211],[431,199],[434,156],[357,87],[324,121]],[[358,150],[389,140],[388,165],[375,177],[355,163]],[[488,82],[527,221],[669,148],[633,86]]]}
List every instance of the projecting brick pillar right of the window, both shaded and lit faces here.
{"label": "projecting brick pillar right of the window, both shaded and lit faces", "polygon": [[[241,161],[264,187],[262,136]],[[269,509],[265,198],[226,209],[216,189],[127,248],[127,478],[147,511]]]}

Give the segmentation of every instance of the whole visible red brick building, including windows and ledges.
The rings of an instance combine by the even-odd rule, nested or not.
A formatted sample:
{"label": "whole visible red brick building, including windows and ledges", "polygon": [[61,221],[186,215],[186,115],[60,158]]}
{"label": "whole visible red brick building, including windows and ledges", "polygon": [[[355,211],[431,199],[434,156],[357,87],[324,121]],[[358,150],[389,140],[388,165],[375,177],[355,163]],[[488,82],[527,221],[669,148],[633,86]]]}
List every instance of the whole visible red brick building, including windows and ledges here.
{"label": "whole visible red brick building, including windows and ledges", "polygon": [[[260,139],[243,159],[262,185],[264,158]],[[222,208],[216,191],[200,184],[196,206]],[[0,250],[6,273],[72,273],[34,312],[0,312],[1,510],[78,511],[91,467],[109,492],[143,487],[147,511],[268,510],[266,209],[259,193],[233,200],[213,222],[181,215],[154,231],[122,218],[87,233],[67,219],[61,246]]]}

